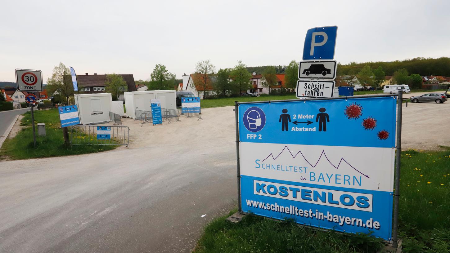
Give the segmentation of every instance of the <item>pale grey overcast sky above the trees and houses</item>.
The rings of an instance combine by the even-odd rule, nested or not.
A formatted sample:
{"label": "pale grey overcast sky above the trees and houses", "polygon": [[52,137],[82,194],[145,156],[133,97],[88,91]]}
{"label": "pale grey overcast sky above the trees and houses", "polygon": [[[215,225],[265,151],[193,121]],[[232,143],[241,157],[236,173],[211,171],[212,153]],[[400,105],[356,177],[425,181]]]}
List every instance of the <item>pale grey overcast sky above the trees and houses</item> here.
{"label": "pale grey overcast sky above the trees and houses", "polygon": [[63,62],[77,74],[181,78],[199,60],[220,68],[288,65],[306,30],[338,26],[341,63],[450,56],[450,1],[48,1],[0,3],[0,81]]}

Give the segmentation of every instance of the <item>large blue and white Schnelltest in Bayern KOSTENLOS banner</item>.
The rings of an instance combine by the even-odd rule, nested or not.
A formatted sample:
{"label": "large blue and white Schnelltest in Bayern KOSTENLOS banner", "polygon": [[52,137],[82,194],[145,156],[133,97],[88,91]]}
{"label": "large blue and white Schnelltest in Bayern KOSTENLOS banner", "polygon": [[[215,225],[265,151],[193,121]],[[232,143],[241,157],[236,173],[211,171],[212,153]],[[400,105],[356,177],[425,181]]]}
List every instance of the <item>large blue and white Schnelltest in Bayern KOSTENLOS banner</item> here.
{"label": "large blue and white Schnelltest in Bayern KOSTENLOS banner", "polygon": [[243,212],[391,238],[396,99],[240,104]]}

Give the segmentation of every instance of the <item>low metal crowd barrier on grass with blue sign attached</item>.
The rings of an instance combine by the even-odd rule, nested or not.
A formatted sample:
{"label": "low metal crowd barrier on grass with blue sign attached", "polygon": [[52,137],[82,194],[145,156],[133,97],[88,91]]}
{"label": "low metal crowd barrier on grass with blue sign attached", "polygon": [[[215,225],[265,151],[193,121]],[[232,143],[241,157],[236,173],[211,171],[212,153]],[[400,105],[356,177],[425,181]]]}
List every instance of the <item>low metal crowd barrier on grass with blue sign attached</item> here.
{"label": "low metal crowd barrier on grass with blue sign attached", "polygon": [[69,132],[71,146],[79,146],[79,145],[128,146],[130,144],[130,128],[128,128],[127,126],[102,126],[107,127],[108,129],[111,130],[109,139],[97,139],[97,127],[99,126],[73,125]]}

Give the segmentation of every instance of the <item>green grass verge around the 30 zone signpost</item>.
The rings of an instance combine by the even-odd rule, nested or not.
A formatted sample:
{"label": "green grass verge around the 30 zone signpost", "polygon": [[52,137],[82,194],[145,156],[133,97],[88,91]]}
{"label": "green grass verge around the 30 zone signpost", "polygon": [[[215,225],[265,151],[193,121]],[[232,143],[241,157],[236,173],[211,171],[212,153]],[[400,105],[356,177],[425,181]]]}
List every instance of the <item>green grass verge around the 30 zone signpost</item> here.
{"label": "green grass verge around the 30 zone signpost", "polygon": [[[20,125],[25,126],[14,138],[7,139],[0,149],[0,160],[28,159],[62,155],[79,155],[107,151],[116,146],[64,146],[63,130],[60,128],[58,110],[40,110],[34,112],[36,124],[36,148],[33,146],[31,113],[24,114]],[[45,137],[37,134],[37,123],[45,123]]]}

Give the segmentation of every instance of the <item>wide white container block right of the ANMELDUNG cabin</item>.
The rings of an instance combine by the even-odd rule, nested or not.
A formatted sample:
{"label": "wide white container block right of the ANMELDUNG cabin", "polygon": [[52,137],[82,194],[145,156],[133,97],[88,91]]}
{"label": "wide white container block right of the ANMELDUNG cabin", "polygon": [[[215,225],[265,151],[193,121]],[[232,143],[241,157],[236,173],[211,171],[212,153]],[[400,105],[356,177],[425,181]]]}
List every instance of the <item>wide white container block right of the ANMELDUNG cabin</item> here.
{"label": "wide white container block right of the ANMELDUNG cabin", "polygon": [[124,92],[126,116],[136,118],[135,110],[152,111],[150,100],[158,98],[161,108],[176,110],[175,90],[145,90]]}

